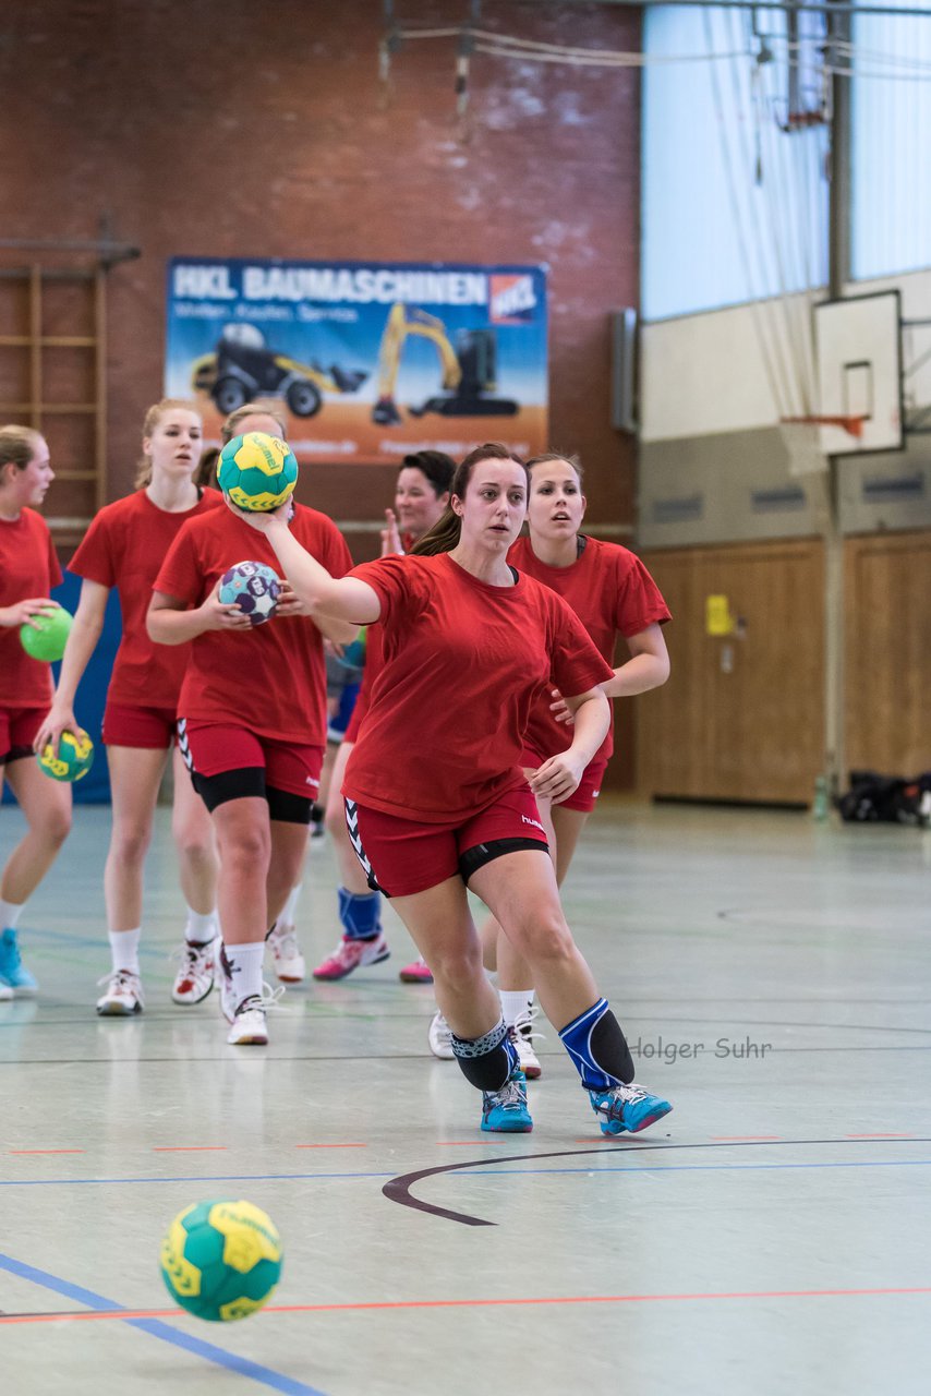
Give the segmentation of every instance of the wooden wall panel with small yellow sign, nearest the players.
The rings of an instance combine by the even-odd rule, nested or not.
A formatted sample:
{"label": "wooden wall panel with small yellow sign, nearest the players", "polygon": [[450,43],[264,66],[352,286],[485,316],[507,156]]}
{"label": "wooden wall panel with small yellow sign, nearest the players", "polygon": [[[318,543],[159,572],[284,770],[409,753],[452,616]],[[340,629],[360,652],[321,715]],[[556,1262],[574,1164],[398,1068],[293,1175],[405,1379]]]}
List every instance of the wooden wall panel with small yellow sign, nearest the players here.
{"label": "wooden wall panel with small yellow sign, nearest the players", "polygon": [[[673,611],[673,671],[638,699],[646,794],[807,803],[824,751],[824,565],[811,540],[645,554]],[[736,631],[706,632],[708,596]]]}

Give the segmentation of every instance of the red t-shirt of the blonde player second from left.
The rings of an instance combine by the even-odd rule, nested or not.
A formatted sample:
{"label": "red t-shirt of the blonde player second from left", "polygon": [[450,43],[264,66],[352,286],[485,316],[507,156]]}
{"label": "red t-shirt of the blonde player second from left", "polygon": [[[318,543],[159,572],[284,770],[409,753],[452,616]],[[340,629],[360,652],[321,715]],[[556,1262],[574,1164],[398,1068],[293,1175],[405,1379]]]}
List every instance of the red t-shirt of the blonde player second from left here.
{"label": "red t-shirt of the blonde player second from left", "polygon": [[128,708],[174,708],[190,645],[156,645],[145,632],[152,582],[165,554],[188,519],[215,510],[223,497],[205,490],[193,510],[169,514],[145,490],[107,504],[96,515],[68,571],[100,586],[116,586],[123,637],[107,688],[112,702]]}

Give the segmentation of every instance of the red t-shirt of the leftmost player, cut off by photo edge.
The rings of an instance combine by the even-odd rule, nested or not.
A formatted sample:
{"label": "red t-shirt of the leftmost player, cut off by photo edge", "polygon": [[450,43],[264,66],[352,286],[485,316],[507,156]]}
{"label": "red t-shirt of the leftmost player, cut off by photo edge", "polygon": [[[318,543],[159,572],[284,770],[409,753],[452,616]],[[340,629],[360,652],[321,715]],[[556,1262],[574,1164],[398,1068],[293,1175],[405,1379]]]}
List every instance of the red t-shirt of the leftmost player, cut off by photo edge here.
{"label": "red t-shirt of the leftmost player, cut off by photo edge", "polygon": [[[35,510],[18,519],[0,518],[0,606],[28,596],[47,596],[61,582],[61,568],[49,525]],[[0,705],[50,708],[54,685],[52,666],[27,655],[20,627],[0,627]]]}

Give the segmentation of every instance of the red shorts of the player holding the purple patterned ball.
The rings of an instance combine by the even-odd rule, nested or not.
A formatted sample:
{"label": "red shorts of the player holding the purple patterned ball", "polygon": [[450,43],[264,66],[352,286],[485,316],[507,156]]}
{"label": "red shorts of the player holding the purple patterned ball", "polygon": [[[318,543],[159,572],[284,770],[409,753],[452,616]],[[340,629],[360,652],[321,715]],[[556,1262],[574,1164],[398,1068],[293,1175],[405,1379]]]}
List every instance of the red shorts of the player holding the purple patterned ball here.
{"label": "red shorts of the player holding the purple patterned ball", "polygon": [[193,775],[219,776],[228,771],[261,768],[265,785],[289,794],[317,797],[324,748],[276,741],[247,727],[179,719],[179,744]]}

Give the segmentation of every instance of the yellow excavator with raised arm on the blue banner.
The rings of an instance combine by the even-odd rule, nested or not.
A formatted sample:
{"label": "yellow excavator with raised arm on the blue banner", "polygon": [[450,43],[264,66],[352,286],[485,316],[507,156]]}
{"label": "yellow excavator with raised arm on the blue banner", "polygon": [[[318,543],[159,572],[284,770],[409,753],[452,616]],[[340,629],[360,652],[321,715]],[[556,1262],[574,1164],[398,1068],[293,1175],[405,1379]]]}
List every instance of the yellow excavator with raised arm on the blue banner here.
{"label": "yellow excavator with raised arm on the blue banner", "polygon": [[458,329],[454,348],[447,327],[435,315],[416,306],[395,304],[378,350],[378,401],[371,409],[371,420],[378,426],[394,427],[402,420],[395,384],[401,350],[410,335],[435,345],[442,373],[442,395],[427,398],[419,408],[409,406],[412,417],[427,412],[444,417],[512,417],[519,412],[518,402],[494,396],[497,341],[493,329]]}

